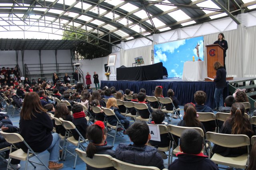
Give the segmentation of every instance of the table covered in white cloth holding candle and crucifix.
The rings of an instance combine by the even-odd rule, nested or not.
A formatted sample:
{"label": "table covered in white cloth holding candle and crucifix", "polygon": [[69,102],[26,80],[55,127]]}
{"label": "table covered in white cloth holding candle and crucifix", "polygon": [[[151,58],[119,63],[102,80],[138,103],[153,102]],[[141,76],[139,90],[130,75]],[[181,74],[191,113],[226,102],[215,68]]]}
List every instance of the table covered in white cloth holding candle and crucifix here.
{"label": "table covered in white cloth holding candle and crucifix", "polygon": [[207,76],[204,61],[186,61],[183,66],[182,80],[189,82],[203,81]]}

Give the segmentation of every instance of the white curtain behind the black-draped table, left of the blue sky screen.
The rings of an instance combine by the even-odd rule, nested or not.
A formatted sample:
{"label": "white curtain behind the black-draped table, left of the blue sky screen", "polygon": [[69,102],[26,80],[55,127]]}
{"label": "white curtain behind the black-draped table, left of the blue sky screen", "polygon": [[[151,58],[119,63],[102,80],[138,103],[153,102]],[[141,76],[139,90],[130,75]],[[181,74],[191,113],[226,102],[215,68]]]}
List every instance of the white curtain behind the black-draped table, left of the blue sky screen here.
{"label": "white curtain behind the black-draped table, left of the blue sky screen", "polygon": [[131,67],[132,63],[135,63],[134,58],[140,56],[142,56],[144,60],[144,64],[142,64],[142,66],[152,64],[151,50],[152,45],[128,50],[120,49],[120,66],[124,65],[126,67]]}

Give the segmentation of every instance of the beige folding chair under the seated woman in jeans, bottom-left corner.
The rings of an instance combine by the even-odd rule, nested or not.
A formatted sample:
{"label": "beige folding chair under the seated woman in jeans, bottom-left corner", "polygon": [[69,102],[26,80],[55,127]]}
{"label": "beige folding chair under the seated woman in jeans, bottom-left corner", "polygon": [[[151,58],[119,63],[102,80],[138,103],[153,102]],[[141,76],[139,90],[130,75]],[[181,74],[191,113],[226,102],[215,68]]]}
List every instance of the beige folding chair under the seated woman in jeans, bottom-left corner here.
{"label": "beige folding chair under the seated woman in jeans, bottom-left corner", "polygon": [[[48,168],[48,166],[39,158],[39,156],[36,154],[36,152],[34,152],[30,146],[26,143],[26,141],[24,141],[23,137],[18,134],[18,133],[5,133],[3,131],[0,131],[1,135],[3,135],[4,139],[11,144],[15,144],[15,143],[19,143],[19,142],[23,142],[24,145],[26,145],[26,147],[28,147],[28,151],[27,152],[23,152],[22,149],[18,149],[15,150],[14,152],[12,152],[13,149],[13,145],[11,145],[10,147],[10,154],[9,154],[9,160],[8,160],[8,164],[7,164],[7,169],[11,169],[10,166],[10,158],[14,158],[14,159],[18,159],[18,160],[23,160],[26,161],[26,165],[25,165],[25,170],[28,168],[28,162],[34,166],[34,168],[36,168],[36,166],[33,164],[39,164],[44,166],[47,170],[50,170]],[[32,158],[33,156],[36,156],[36,158],[41,162],[34,162],[32,160],[30,160],[30,158]]]}

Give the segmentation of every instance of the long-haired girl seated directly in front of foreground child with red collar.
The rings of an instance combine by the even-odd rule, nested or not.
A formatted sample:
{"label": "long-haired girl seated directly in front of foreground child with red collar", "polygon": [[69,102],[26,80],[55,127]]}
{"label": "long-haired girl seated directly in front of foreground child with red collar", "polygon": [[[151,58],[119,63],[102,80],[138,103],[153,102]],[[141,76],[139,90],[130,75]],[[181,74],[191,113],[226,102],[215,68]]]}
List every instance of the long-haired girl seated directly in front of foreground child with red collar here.
{"label": "long-haired girl seated directly in front of foreground child with red collar", "polygon": [[204,131],[204,134],[206,133],[203,123],[198,120],[195,106],[194,104],[191,104],[191,103],[185,104],[184,117],[183,117],[183,120],[181,120],[178,123],[178,126],[200,127]]}

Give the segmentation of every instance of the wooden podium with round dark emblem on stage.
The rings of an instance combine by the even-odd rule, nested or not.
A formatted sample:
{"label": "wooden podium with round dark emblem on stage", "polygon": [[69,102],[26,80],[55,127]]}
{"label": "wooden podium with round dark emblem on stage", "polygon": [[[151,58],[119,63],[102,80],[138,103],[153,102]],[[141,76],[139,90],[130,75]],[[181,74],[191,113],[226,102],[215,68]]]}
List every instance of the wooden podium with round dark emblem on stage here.
{"label": "wooden podium with round dark emblem on stage", "polygon": [[218,61],[222,65],[224,64],[223,60],[223,48],[218,44],[206,45],[207,51],[207,76],[214,78],[216,76],[216,70],[214,70],[213,64]]}

